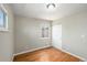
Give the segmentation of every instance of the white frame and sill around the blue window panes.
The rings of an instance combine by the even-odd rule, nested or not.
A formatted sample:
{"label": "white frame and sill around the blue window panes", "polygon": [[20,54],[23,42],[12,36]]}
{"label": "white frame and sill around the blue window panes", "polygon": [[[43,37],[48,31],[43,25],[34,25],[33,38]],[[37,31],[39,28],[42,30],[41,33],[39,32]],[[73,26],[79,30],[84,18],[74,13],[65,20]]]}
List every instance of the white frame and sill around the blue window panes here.
{"label": "white frame and sill around the blue window panes", "polygon": [[8,30],[8,12],[7,12],[7,10],[6,10],[3,4],[0,4],[0,10],[2,10],[4,12],[4,14],[6,14],[4,26],[2,26],[2,28],[0,26],[0,31],[9,31]]}

